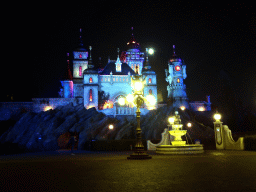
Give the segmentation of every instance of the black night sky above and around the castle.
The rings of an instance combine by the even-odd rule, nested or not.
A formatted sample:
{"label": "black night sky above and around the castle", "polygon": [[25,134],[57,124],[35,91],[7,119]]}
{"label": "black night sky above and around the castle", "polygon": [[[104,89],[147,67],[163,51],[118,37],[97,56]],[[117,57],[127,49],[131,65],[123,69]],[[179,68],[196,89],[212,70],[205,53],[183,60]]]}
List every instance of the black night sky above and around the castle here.
{"label": "black night sky above and around the castle", "polygon": [[[113,2],[113,1],[111,1]],[[240,1],[241,2],[241,1]],[[244,2],[244,1],[242,1]],[[256,19],[253,3],[217,1],[115,1],[94,0],[85,5],[21,4],[9,10],[2,36],[1,100],[31,101],[57,97],[60,80],[83,29],[83,42],[92,46],[93,62],[105,66],[116,59],[117,48],[127,50],[131,27],[141,44],[155,49],[150,57],[158,76],[159,101],[166,101],[164,69],[176,54],[187,65],[187,95],[191,101],[211,96],[213,108],[256,105]],[[7,17],[7,16],[6,16]],[[6,57],[7,56],[7,57]],[[5,59],[4,59],[5,60]]]}

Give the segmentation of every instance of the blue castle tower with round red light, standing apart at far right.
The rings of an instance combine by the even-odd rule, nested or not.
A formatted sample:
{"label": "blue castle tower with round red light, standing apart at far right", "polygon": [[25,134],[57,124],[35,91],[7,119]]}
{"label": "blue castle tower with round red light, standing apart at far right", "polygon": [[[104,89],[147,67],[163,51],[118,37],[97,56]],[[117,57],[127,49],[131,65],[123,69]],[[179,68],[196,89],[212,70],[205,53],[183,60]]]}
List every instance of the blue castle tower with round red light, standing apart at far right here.
{"label": "blue castle tower with round red light, standing apart at far right", "polygon": [[173,56],[168,63],[168,70],[165,70],[166,81],[169,83],[167,86],[168,100],[173,107],[184,106],[189,107],[186,85],[183,80],[186,79],[186,65],[183,65],[182,59],[175,53],[175,45],[173,45]]}

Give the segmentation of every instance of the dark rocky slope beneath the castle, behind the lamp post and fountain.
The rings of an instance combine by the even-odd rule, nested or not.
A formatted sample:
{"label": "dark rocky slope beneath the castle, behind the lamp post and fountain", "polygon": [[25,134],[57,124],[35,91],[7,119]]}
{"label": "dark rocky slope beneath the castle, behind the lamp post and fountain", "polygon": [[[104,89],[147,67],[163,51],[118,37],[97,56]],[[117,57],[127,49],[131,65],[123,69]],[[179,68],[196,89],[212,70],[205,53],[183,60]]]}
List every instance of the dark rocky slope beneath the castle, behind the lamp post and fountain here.
{"label": "dark rocky slope beneath the castle, behind the lamp post and fountain", "polygon": [[[188,110],[179,112],[184,129],[188,130],[193,141],[214,139],[213,128],[196,120],[195,117],[200,115]],[[142,139],[160,140],[171,113],[173,109],[165,106],[142,116]],[[193,123],[192,128],[186,127],[188,121]],[[212,124],[209,118],[207,122]],[[109,124],[114,125],[113,130],[108,129]],[[65,147],[70,133],[77,133],[78,149],[84,149],[85,143],[90,139],[134,139],[136,124],[135,116],[111,118],[95,108],[87,110],[83,105],[70,104],[46,112],[23,114],[17,123],[0,136],[0,142],[15,143],[27,151],[57,150]]]}

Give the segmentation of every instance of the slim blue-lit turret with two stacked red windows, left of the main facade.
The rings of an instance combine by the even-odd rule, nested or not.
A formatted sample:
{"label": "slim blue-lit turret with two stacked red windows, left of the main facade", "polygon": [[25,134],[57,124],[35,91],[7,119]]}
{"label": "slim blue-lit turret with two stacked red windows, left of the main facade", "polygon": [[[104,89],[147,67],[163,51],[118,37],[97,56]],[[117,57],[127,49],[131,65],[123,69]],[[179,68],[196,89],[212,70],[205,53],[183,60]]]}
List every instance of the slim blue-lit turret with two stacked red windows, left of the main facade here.
{"label": "slim blue-lit turret with two stacked red windows, left of the main facade", "polygon": [[92,62],[92,47],[90,49],[90,58],[88,68],[83,72],[83,85],[84,85],[84,107],[95,107],[98,109],[98,91],[99,91],[99,75],[98,71],[94,68]]}

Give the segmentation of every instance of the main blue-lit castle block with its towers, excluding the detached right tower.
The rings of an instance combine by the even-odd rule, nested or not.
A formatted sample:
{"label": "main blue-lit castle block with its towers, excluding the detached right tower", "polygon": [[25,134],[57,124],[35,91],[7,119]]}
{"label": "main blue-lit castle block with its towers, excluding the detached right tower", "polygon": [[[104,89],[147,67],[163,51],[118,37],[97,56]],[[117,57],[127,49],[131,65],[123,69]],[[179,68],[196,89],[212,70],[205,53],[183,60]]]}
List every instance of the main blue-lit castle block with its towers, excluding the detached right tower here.
{"label": "main blue-lit castle block with its towers, excluding the detached right tower", "polygon": [[[85,108],[95,107],[108,115],[133,115],[135,109],[129,105],[119,106],[118,99],[132,93],[131,76],[139,74],[146,79],[144,96],[150,94],[157,98],[156,73],[151,69],[147,51],[141,51],[133,34],[127,46],[127,51],[123,51],[121,57],[118,49],[117,59],[109,60],[105,68],[100,70],[92,62],[92,47],[88,52],[83,47],[80,35],[79,47],[73,51],[73,75],[61,81],[61,97],[83,98]],[[150,109],[155,108],[150,106]],[[145,112],[148,109],[145,108]]]}

